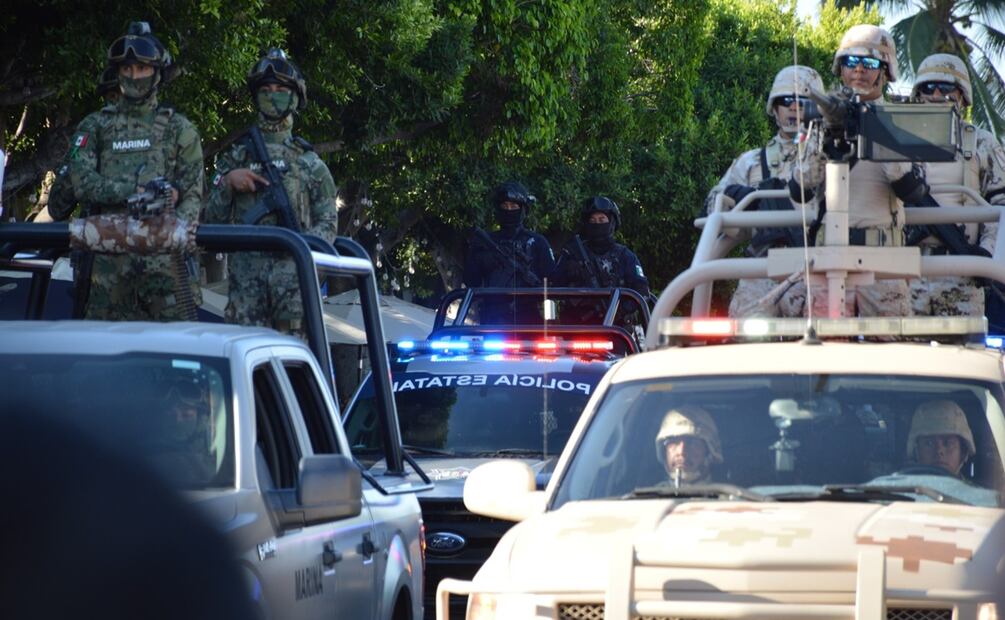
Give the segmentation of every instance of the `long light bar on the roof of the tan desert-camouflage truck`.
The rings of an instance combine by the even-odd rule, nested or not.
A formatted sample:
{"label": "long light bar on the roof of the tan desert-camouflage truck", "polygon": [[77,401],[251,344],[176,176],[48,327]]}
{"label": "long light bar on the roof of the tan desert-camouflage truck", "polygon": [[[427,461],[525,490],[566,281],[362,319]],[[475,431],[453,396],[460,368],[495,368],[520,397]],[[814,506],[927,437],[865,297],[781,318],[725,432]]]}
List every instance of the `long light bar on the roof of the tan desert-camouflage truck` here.
{"label": "long light bar on the roof of the tan desert-camouflage truck", "polygon": [[[818,338],[980,337],[987,333],[983,317],[867,317],[814,319]],[[807,331],[805,319],[663,319],[665,343],[687,341],[797,340]]]}

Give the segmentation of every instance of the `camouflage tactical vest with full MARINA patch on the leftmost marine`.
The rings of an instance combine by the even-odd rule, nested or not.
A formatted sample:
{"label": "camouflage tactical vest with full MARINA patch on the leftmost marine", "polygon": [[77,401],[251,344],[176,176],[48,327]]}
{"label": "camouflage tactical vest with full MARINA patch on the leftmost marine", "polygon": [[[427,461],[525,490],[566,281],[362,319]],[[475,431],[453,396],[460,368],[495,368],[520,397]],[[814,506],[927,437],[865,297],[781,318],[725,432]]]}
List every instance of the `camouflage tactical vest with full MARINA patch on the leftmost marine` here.
{"label": "camouflage tactical vest with full MARINA patch on the leftmost marine", "polygon": [[[142,186],[157,177],[175,184],[177,145],[165,140],[174,110],[158,107],[153,118],[120,113],[116,106],[102,109],[97,170],[115,182]],[[108,205],[122,210],[124,205]]]}

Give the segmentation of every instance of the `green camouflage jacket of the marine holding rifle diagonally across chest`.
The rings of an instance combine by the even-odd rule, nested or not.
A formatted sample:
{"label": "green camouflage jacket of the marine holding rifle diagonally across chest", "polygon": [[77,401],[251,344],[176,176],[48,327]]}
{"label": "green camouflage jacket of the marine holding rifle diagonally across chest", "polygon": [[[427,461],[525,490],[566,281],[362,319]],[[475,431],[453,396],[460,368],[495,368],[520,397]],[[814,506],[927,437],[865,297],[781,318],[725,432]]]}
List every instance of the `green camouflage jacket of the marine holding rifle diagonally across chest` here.
{"label": "green camouflage jacket of the marine holding rifle diagonally across chest", "polygon": [[[289,204],[305,233],[334,241],[339,234],[336,187],[328,166],[306,141],[288,131],[262,131],[265,148],[272,163],[282,174],[282,185]],[[244,141],[238,141],[216,159],[216,167],[205,221],[211,224],[239,224],[257,202],[256,192],[234,192],[223,181],[232,170],[249,168],[259,173],[261,164]],[[276,216],[266,215],[260,224],[277,225]]]}

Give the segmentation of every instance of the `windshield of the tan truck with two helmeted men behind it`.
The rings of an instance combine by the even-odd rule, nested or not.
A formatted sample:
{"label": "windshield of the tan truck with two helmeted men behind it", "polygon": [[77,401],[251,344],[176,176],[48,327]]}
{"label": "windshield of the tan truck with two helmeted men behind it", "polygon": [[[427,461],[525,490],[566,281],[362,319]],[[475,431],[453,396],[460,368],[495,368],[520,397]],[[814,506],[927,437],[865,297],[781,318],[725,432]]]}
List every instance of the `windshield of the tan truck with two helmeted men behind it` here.
{"label": "windshield of the tan truck with two helmeted men behind it", "polygon": [[890,487],[924,487],[900,494],[932,500],[945,493],[998,505],[1001,402],[998,385],[903,376],[684,377],[613,385],[553,505],[688,496],[662,492],[688,486],[701,496],[739,496],[722,490],[733,488],[775,499],[840,499],[865,496],[863,485],[869,492],[882,486],[877,494],[886,499]]}

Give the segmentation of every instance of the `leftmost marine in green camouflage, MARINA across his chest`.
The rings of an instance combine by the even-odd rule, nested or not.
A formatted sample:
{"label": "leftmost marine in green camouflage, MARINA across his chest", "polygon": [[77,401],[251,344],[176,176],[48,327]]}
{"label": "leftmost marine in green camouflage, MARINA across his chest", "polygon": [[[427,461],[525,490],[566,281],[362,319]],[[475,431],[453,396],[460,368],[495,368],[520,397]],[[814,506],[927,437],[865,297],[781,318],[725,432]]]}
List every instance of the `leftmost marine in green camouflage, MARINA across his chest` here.
{"label": "leftmost marine in green camouflage, MARINA across his chest", "polygon": [[[126,213],[126,200],[165,177],[174,187],[175,212],[193,221],[202,204],[202,143],[195,127],[158,104],[158,85],[172,68],[171,55],[145,22],[109,48],[122,97],[89,115],[70,147],[70,180],[90,212]],[[152,71],[151,71],[152,69]],[[196,303],[198,283],[188,282]],[[176,294],[171,256],[96,255],[85,318],[106,321],[185,319]]]}

